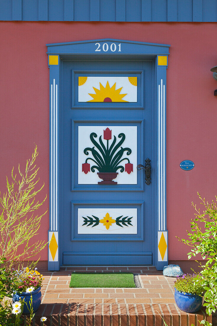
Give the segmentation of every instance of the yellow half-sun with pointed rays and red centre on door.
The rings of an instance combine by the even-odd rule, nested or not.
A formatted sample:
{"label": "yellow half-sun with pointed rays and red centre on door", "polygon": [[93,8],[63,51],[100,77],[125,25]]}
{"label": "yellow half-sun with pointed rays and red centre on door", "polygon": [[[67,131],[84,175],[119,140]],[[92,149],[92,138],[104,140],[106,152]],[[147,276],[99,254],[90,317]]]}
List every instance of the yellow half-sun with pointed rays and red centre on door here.
{"label": "yellow half-sun with pointed rays and red centre on door", "polygon": [[123,87],[115,89],[116,82],[111,87],[108,82],[106,87],[101,83],[99,83],[99,86],[100,89],[93,87],[96,94],[89,94],[93,99],[88,102],[128,102],[123,100],[123,97],[127,94],[120,94]]}

